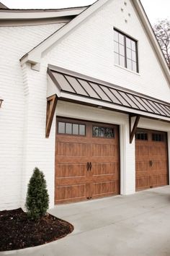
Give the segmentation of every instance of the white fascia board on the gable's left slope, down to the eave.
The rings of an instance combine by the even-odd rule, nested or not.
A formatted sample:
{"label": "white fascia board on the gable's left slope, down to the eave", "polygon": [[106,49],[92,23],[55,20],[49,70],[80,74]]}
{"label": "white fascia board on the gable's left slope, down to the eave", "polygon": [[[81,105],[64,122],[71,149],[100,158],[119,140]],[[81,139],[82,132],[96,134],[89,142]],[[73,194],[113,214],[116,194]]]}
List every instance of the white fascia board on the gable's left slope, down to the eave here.
{"label": "white fascia board on the gable's left slope, down to the eave", "polygon": [[[77,25],[80,25],[81,22],[86,20],[87,17],[89,17],[91,14],[93,14],[97,9],[102,7],[104,4],[107,3],[107,1],[110,0],[99,0],[96,1],[94,4],[91,5],[91,7],[87,8],[84,12],[81,12],[79,16],[75,17],[71,22],[69,22],[67,25],[61,27],[60,30],[53,33],[53,35],[50,35],[49,38],[44,40],[42,43],[40,43],[38,46],[33,48],[29,53],[27,53],[27,61],[30,63],[35,64],[36,61],[40,63],[40,59],[37,60],[35,58],[35,55],[42,56],[42,53],[48,50],[51,46],[53,46],[59,39],[61,39],[66,33],[70,32],[74,27]],[[21,61],[26,62],[24,60],[25,56],[22,57]],[[32,62],[33,61],[33,62]]]}

